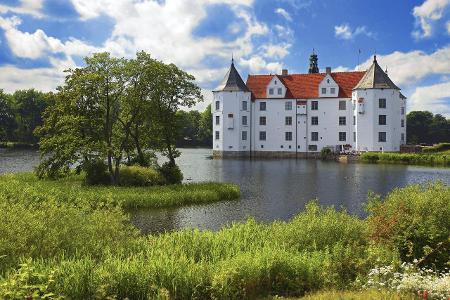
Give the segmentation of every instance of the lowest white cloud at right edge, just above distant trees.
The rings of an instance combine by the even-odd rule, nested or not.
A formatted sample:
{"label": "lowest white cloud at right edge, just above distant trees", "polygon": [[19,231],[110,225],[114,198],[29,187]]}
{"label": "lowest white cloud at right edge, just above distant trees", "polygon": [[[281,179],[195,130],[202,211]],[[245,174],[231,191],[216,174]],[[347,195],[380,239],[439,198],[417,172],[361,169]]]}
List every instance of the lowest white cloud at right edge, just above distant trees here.
{"label": "lowest white cloud at right edge, just above distant trees", "polygon": [[450,118],[450,81],[416,88],[408,105],[409,110],[428,110]]}

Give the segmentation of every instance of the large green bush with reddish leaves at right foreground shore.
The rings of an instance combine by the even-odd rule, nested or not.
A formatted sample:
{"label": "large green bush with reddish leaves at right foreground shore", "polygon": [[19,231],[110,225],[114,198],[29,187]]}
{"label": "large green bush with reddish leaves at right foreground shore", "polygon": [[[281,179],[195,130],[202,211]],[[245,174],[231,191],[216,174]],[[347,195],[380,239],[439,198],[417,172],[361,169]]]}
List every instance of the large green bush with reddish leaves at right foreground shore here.
{"label": "large green bush with reddish leaves at right foreground shore", "polygon": [[368,211],[371,238],[398,249],[403,261],[438,269],[450,263],[450,187],[395,189],[383,202],[370,197]]}

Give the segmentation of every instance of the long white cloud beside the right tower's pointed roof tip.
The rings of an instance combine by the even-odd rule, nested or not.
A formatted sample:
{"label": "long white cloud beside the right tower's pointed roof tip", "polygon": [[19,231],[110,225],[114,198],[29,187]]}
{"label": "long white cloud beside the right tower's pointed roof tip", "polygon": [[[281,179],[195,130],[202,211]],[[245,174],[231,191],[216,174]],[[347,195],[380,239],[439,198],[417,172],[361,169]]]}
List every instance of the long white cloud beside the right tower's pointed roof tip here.
{"label": "long white cloud beside the right tower's pointed roof tip", "polygon": [[[389,77],[397,85],[410,85],[431,75],[450,74],[450,45],[427,54],[420,50],[395,51],[388,55],[377,55],[380,66],[388,67]],[[367,69],[372,58],[362,63],[359,69]]]}

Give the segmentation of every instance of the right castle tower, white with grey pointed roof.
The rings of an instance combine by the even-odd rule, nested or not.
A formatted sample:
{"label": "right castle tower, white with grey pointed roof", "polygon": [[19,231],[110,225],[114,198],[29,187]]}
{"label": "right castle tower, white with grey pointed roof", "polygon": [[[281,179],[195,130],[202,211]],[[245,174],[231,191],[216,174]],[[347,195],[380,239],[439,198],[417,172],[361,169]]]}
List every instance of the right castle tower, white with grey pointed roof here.
{"label": "right castle tower, white with grey pointed roof", "polygon": [[[399,151],[406,143],[406,98],[377,62],[352,92],[357,151]],[[400,115],[400,118],[399,118]]]}

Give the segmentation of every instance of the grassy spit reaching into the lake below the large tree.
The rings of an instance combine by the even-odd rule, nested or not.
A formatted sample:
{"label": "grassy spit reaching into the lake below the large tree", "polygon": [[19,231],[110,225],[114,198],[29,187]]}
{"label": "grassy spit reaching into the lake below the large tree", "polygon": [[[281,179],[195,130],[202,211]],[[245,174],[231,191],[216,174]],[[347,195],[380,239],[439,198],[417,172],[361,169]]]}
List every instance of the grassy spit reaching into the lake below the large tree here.
{"label": "grassy spit reaching into the lake below the large tree", "polygon": [[[60,202],[88,202],[91,206],[118,205],[122,208],[163,208],[203,204],[240,197],[232,183],[202,182],[152,187],[84,186],[81,176],[60,180],[38,180],[32,173],[0,175],[0,193],[22,186],[30,199],[47,195]],[[13,196],[13,195],[11,195]]]}

